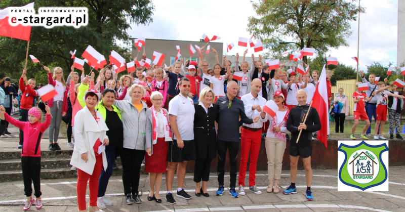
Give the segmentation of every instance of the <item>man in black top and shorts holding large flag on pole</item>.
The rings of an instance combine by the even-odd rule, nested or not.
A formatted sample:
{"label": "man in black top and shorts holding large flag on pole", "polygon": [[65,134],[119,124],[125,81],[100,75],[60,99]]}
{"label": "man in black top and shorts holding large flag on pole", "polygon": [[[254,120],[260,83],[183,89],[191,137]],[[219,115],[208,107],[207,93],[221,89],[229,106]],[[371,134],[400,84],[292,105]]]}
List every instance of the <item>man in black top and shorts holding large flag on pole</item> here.
{"label": "man in black top and shorts holding large flag on pole", "polygon": [[[287,187],[287,190],[283,191],[284,194],[296,194],[297,188],[295,187],[295,181],[297,178],[297,165],[298,157],[302,158],[305,168],[305,177],[307,181],[306,196],[307,200],[312,201],[313,196],[311,192],[312,183],[312,168],[311,168],[311,135],[313,132],[319,131],[320,121],[319,115],[315,108],[311,108],[308,117],[304,122],[305,116],[308,113],[309,105],[306,103],[307,94],[304,90],[300,89],[296,95],[298,105],[290,110],[290,115],[287,119],[287,130],[291,132],[291,144],[290,144],[290,175],[291,185]],[[302,130],[300,139],[297,143],[298,134]]]}

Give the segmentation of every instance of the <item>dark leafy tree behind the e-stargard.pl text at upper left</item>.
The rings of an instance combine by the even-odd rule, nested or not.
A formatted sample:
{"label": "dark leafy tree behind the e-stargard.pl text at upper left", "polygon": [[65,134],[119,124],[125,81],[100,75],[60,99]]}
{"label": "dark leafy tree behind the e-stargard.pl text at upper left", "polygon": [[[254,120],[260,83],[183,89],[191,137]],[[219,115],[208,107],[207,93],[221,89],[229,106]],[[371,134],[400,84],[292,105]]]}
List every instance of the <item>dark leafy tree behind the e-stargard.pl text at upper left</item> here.
{"label": "dark leafy tree behind the e-stargard.pl text at upper left", "polygon": [[[4,0],[0,2],[0,8],[20,7],[28,4],[29,0]],[[151,0],[65,0],[46,1],[36,0],[35,10],[40,7],[86,7],[88,8],[89,23],[80,28],[32,27],[29,43],[29,54],[34,55],[43,64],[49,67],[60,66],[65,77],[70,72],[73,60],[70,59],[69,51],[77,50],[76,56],[82,55],[88,45],[91,45],[108,60],[111,50],[126,57],[127,62],[130,49],[118,47],[116,40],[131,44],[131,36],[126,32],[131,23],[148,24],[152,21],[154,6]],[[128,45],[131,46],[131,45]],[[0,77],[5,75],[14,79],[19,78],[24,68],[27,41],[9,37],[0,37]],[[126,55],[126,56],[125,56]],[[28,57],[29,60],[29,57]],[[27,77],[36,78],[37,83],[47,83],[46,71],[40,64],[28,62]],[[89,66],[85,65],[90,72]]]}

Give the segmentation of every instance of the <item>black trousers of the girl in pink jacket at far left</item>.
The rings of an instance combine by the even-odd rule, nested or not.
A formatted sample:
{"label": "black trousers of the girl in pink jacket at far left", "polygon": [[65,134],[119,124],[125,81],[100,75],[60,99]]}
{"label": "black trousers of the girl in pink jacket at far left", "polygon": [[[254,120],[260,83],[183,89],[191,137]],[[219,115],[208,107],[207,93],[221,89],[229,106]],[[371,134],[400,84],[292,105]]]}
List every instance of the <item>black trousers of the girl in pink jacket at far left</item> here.
{"label": "black trousers of the girl in pink jacket at far left", "polygon": [[21,156],[22,178],[24,180],[24,193],[26,196],[32,195],[31,181],[34,184],[35,197],[41,193],[41,157]]}

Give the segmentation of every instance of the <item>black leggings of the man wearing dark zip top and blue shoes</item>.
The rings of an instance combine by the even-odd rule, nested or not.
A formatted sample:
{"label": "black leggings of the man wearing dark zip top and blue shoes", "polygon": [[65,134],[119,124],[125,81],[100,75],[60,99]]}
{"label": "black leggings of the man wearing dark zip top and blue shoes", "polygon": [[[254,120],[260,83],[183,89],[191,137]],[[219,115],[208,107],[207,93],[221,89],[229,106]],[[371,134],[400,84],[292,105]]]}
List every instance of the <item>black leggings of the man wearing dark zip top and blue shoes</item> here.
{"label": "black leggings of the man wearing dark zip top and blue shoes", "polygon": [[234,141],[221,141],[217,142],[218,151],[218,184],[224,185],[224,175],[225,175],[225,160],[226,160],[226,150],[229,150],[229,162],[231,164],[230,171],[230,187],[235,187],[236,185],[236,172],[237,172],[237,154],[239,152],[239,142]]}

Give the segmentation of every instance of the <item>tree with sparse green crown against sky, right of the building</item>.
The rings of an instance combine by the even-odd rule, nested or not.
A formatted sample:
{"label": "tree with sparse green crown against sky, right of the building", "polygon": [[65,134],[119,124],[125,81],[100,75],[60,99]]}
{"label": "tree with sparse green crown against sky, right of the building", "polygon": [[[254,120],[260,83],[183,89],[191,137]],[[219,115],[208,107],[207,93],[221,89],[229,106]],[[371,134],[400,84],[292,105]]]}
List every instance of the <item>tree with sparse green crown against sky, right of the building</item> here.
{"label": "tree with sparse green crown against sky, right of the building", "polygon": [[[259,18],[249,17],[248,30],[262,39],[273,57],[304,47],[322,54],[329,48],[348,46],[350,21],[364,12],[354,0],[259,0],[253,8]],[[303,60],[307,62],[306,57]]]}

